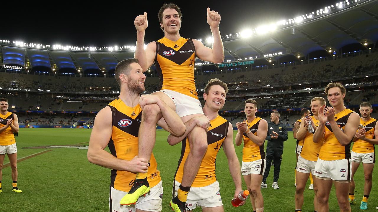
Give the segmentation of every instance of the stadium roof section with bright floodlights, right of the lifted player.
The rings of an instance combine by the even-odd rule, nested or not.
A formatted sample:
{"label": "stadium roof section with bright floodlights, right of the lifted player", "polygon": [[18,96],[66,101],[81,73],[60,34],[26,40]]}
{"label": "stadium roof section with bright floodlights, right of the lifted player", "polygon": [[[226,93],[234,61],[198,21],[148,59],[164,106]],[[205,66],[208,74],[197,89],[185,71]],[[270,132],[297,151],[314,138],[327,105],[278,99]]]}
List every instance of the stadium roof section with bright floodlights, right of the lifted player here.
{"label": "stadium roof section with bright floodlights, right of the lifted player", "polygon": [[[271,58],[275,55],[303,57],[314,51],[337,52],[350,44],[369,45],[377,40],[378,1],[366,1],[270,33],[256,34],[247,38],[238,36],[237,39],[223,41],[223,45],[225,60],[234,61],[235,58],[256,58],[256,56],[257,58]],[[278,52],[282,54],[276,54]]]}

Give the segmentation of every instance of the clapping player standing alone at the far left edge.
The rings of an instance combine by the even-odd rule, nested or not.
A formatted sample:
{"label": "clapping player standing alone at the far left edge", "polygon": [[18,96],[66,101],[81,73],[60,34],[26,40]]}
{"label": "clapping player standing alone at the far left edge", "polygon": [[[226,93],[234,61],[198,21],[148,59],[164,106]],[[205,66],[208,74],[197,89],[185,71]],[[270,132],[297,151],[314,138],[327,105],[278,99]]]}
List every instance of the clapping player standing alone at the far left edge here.
{"label": "clapping player standing alone at the far left edge", "polygon": [[1,181],[5,154],[8,155],[12,169],[12,191],[21,193],[22,190],[17,188],[17,146],[14,139],[14,133],[19,132],[19,123],[17,115],[9,112],[8,107],[8,99],[0,98],[0,193],[3,192]]}

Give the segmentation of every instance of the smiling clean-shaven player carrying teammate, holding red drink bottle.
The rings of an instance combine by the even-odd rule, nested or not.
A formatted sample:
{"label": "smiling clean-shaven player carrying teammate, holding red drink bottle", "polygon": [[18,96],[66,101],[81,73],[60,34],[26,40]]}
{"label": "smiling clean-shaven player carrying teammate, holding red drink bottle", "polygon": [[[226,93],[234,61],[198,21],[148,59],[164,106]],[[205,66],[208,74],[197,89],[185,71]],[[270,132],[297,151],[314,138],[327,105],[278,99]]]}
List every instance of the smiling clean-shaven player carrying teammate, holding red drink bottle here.
{"label": "smiling clean-shaven player carrying teammate, holding red drink bottle", "polygon": [[[215,176],[215,160],[221,147],[226,154],[228,167],[235,183],[234,198],[242,191],[242,179],[240,177],[240,163],[235,153],[233,142],[232,125],[222,116],[218,115],[223,108],[228,92],[227,84],[218,80],[211,79],[204,89],[203,98],[205,105],[204,114],[209,117],[210,127],[207,132],[208,149],[203,157],[197,175],[192,183],[191,191],[186,200],[188,210],[193,210],[197,206],[202,207],[204,212],[223,212],[222,198],[219,192],[219,183]],[[205,124],[208,119],[204,116],[196,116],[185,123],[186,132],[180,138],[169,135],[168,143],[174,145],[181,141],[181,157],[178,161],[177,171],[175,173],[175,182],[173,185],[172,196],[177,195],[178,186],[183,181],[184,164],[192,146],[186,135],[196,125]],[[239,205],[244,204],[244,202]]]}

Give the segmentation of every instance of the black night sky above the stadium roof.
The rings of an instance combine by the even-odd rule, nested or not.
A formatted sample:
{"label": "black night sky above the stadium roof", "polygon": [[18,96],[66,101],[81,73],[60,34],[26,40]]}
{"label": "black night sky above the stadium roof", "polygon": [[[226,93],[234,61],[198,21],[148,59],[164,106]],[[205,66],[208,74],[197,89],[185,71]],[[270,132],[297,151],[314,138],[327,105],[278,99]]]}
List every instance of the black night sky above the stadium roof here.
{"label": "black night sky above the stadium roof", "polygon": [[[51,2],[46,7],[28,3],[3,5],[0,39],[26,43],[60,44],[71,46],[135,45],[134,19],[147,12],[149,26],[145,43],[164,36],[157,13],[163,3],[176,3],[182,13],[180,35],[186,38],[209,37],[206,8],[219,12],[221,35],[235,34],[245,28],[276,23],[279,20],[309,14],[335,1],[317,0],[261,0],[261,1],[124,1],[101,4]],[[95,1],[93,1],[95,2]],[[190,2],[190,3],[189,3]],[[3,3],[2,3],[3,4]],[[6,8],[6,9],[5,9]]]}

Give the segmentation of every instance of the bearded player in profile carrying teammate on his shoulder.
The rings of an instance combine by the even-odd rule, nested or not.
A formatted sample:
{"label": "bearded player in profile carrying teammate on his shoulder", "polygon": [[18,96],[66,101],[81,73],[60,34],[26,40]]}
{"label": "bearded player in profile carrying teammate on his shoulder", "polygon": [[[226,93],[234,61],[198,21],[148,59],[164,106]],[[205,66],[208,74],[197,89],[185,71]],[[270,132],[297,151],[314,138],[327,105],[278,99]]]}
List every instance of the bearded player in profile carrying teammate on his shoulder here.
{"label": "bearded player in profile carrying teammate on his shoulder", "polygon": [[[146,76],[138,60],[131,58],[118,63],[115,78],[121,88],[119,97],[103,108],[95,118],[91,133],[88,160],[112,169],[110,171],[109,211],[161,211],[163,186],[154,156],[147,161],[138,158],[138,130],[141,125],[142,106],[154,104],[166,122],[158,123],[172,134],[182,131],[184,124],[157,95],[142,95]],[[181,132],[180,132],[181,133]],[[105,151],[108,146],[110,153]],[[147,169],[147,167],[149,167]],[[136,204],[121,206],[119,201],[130,191],[135,173],[147,173],[151,186],[149,194],[139,198]]]}

